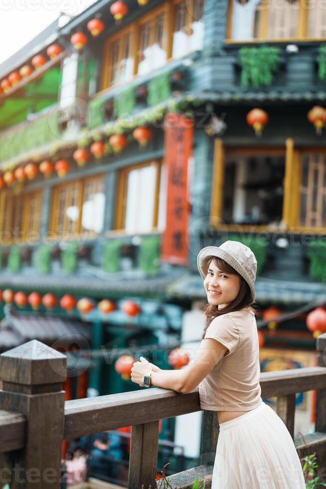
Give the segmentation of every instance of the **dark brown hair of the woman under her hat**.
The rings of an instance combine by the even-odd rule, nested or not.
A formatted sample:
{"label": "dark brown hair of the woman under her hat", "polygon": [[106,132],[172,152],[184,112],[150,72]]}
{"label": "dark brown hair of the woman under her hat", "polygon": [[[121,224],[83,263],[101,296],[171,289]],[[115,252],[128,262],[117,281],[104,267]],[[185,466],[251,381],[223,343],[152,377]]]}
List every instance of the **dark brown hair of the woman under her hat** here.
{"label": "dark brown hair of the woman under her hat", "polygon": [[214,264],[224,273],[229,273],[240,277],[240,290],[236,298],[233,299],[223,309],[218,309],[217,305],[210,304],[209,302],[207,302],[202,306],[201,310],[203,310],[205,313],[206,321],[205,321],[205,327],[201,339],[204,338],[208,326],[210,325],[212,320],[217,316],[228,314],[229,312],[239,311],[240,309],[246,306],[252,310],[255,316],[258,317],[260,316],[258,306],[254,305],[254,303],[252,302],[250,287],[246,282],[246,280],[240,275],[240,273],[238,273],[231,265],[229,265],[222,258],[218,258],[217,256],[211,257],[211,259],[207,263],[207,268],[209,267],[209,264],[212,261],[214,261]]}

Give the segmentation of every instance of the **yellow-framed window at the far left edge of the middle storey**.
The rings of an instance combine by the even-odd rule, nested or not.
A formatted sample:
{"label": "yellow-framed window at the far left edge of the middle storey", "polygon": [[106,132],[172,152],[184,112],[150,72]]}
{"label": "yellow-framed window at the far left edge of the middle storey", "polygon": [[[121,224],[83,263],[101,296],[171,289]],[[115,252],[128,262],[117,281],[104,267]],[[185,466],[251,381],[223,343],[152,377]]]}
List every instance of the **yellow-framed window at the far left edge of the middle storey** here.
{"label": "yellow-framed window at the far left edge of the middle storey", "polygon": [[2,241],[11,242],[14,239],[32,241],[39,238],[41,200],[40,191],[19,196],[13,195],[10,191],[1,192]]}

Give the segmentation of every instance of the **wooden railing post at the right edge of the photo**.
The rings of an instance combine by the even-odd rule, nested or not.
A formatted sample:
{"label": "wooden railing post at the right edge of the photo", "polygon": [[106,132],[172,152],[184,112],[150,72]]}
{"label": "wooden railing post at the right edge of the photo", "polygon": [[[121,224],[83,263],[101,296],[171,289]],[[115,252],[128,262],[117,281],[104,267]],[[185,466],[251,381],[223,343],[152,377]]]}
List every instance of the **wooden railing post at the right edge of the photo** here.
{"label": "wooden railing post at the right edge of the photo", "polygon": [[[326,333],[317,338],[317,365],[326,367]],[[316,421],[315,432],[326,433],[326,386],[316,391]],[[318,454],[319,482],[326,482],[326,452]]]}

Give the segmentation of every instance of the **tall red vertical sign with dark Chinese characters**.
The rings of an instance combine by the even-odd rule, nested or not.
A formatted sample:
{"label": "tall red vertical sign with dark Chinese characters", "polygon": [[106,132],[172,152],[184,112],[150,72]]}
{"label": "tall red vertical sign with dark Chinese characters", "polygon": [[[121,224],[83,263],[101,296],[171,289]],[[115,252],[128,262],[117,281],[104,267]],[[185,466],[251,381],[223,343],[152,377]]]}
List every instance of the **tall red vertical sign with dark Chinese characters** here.
{"label": "tall red vertical sign with dark Chinese characters", "polygon": [[162,239],[162,261],[186,265],[188,249],[188,163],[192,155],[193,122],[169,112],[164,119],[164,161],[167,170],[166,228]]}

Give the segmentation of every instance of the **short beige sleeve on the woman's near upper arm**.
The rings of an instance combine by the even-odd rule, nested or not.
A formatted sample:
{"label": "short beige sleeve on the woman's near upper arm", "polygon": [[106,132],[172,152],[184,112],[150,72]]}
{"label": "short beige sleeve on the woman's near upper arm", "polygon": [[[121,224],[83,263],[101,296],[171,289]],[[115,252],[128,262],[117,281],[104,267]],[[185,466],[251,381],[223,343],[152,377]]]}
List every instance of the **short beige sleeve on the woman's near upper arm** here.
{"label": "short beige sleeve on the woman's near upper arm", "polygon": [[224,356],[231,355],[239,346],[239,329],[234,321],[226,314],[215,317],[208,326],[204,339],[213,338],[224,345],[228,350]]}

